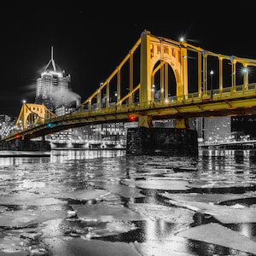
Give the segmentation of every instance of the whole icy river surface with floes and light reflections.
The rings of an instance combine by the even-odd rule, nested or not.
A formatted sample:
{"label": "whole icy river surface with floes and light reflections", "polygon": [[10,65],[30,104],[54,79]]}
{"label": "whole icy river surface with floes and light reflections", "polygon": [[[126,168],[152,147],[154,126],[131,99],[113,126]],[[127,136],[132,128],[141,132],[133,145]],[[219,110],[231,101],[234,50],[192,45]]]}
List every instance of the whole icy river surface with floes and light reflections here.
{"label": "whole icy river surface with floes and light reflections", "polygon": [[0,157],[2,255],[256,255],[256,154]]}

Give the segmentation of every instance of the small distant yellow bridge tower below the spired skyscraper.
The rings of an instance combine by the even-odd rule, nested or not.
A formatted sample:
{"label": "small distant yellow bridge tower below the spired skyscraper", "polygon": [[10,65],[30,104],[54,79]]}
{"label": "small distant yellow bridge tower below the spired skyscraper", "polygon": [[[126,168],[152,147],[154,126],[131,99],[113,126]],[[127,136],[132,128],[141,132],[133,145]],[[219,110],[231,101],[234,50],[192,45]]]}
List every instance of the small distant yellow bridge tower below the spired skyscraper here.
{"label": "small distant yellow bridge tower below the spired skyscraper", "polygon": [[30,125],[44,124],[47,119],[56,117],[44,104],[24,103],[20,109],[15,128],[25,130]]}

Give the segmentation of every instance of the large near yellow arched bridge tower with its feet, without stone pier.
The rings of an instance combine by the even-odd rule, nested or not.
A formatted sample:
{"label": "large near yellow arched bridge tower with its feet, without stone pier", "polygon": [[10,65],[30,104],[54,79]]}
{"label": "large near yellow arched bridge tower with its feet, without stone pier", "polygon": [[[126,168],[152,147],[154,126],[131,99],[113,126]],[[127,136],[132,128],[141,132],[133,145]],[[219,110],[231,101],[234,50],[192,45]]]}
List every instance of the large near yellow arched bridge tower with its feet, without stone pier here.
{"label": "large near yellow arched bridge tower with its feet, without stone pier", "polygon": [[[160,62],[158,67],[156,63]],[[154,37],[148,31],[141,36],[140,102],[154,102],[154,73],[160,70],[160,100],[168,99],[167,67],[172,67],[177,85],[177,99],[183,101],[188,95],[188,58],[187,48],[170,44]],[[140,127],[152,127],[150,116],[139,116]],[[187,129],[186,119],[176,119],[176,127]]]}

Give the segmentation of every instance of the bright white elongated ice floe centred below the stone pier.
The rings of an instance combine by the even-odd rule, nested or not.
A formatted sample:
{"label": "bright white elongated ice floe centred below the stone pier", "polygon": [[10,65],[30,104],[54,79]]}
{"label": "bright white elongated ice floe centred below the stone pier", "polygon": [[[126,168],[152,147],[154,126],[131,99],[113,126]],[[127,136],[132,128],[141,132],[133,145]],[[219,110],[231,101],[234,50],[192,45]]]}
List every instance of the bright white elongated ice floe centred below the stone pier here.
{"label": "bright white elongated ice floe centred below the stone pier", "polygon": [[146,180],[136,180],[135,186],[140,189],[159,189],[159,190],[188,190],[189,182],[183,180],[153,178]]}

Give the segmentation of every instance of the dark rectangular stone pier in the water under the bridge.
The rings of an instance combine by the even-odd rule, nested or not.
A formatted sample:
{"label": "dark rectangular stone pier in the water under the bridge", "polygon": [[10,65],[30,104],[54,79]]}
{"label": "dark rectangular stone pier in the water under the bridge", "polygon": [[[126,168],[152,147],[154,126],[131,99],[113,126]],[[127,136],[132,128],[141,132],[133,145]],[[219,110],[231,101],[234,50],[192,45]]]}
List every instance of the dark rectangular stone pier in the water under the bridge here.
{"label": "dark rectangular stone pier in the water under the bridge", "polygon": [[126,154],[197,155],[197,131],[177,128],[129,128]]}

